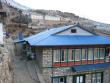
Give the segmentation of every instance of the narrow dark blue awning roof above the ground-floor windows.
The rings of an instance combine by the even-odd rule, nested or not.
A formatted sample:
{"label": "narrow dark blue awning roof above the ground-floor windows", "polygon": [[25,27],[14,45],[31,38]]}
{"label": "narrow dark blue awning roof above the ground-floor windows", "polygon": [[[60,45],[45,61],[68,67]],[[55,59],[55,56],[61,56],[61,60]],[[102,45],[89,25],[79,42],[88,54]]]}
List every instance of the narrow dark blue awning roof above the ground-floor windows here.
{"label": "narrow dark blue awning roof above the ground-floor windows", "polygon": [[72,67],[73,72],[92,71],[98,69],[110,68],[110,63],[88,64]]}

